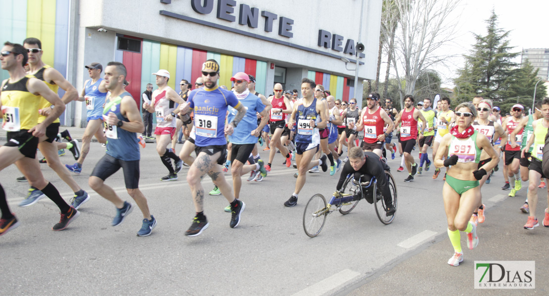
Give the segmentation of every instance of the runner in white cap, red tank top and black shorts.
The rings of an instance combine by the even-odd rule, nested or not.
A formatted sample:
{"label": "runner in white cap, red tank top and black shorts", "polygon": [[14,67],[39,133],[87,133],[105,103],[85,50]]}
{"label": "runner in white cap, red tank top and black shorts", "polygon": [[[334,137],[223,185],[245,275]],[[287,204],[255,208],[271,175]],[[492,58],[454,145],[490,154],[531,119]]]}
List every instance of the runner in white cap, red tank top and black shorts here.
{"label": "runner in white cap, red tank top and black shorts", "polygon": [[[509,196],[515,196],[517,191],[522,188],[520,182],[520,143],[524,136],[523,127],[519,127],[520,122],[523,120],[524,107],[520,104],[515,104],[511,107],[513,116],[503,121],[503,130],[507,132],[507,140],[505,144],[505,165],[507,166],[507,173],[509,178],[514,177],[514,187],[509,192]],[[517,129],[518,128],[518,129]],[[517,130],[516,132],[514,132]],[[513,137],[513,138],[511,138]],[[505,171],[505,170],[504,170]]]}

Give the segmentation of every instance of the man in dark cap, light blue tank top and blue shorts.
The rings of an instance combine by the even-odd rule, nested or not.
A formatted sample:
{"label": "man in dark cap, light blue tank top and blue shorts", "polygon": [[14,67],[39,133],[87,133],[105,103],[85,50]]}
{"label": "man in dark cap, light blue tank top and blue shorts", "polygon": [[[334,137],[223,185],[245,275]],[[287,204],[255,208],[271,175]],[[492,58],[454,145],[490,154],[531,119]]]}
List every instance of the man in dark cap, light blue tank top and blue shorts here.
{"label": "man in dark cap, light blue tank top and blue shorts", "polygon": [[89,142],[92,137],[96,136],[99,143],[106,143],[107,138],[103,134],[103,104],[107,97],[107,88],[105,88],[105,80],[99,78],[103,71],[103,66],[100,63],[91,63],[86,66],[91,79],[86,80],[84,89],[77,101],[86,102],[88,125],[82,136],[82,148],[80,157],[74,165],[65,165],[69,171],[80,174],[82,172],[82,164],[89,152]]}

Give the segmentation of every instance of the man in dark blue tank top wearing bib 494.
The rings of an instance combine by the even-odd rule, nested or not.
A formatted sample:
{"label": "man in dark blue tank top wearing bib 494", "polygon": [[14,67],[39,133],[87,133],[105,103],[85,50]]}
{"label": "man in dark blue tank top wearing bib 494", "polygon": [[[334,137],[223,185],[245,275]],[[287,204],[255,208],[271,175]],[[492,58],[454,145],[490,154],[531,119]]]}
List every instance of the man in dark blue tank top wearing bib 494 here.
{"label": "man in dark blue tank top wearing bib 494", "polygon": [[[320,159],[312,160],[320,145],[320,134],[318,129],[323,129],[328,125],[326,115],[326,104],[320,103],[314,97],[315,82],[308,78],[301,80],[301,94],[303,98],[294,104],[292,115],[288,120],[288,126],[297,124],[297,134],[295,135],[295,163],[298,166],[298,179],[295,181],[295,191],[290,199],[284,202],[284,206],[293,207],[298,204],[298,194],[305,185],[306,173],[313,166],[320,165],[322,171],[328,170],[326,164],[326,155]],[[312,160],[312,161],[311,161]]]}

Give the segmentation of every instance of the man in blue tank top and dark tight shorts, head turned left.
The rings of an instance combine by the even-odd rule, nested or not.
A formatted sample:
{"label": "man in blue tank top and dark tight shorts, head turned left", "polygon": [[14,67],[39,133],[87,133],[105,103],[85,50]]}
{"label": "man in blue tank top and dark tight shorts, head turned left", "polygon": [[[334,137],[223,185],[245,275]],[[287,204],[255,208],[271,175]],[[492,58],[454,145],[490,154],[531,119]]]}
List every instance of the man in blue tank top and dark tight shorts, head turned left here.
{"label": "man in blue tank top and dark tight shorts, head turned left", "polygon": [[137,134],[145,130],[139,109],[122,84],[126,78],[126,67],[120,62],[109,62],[105,68],[105,86],[110,91],[105,103],[103,118],[107,127],[107,153],[97,162],[89,177],[89,186],[116,206],[116,216],[111,225],[117,226],[131,213],[133,206],[122,200],[106,185],[105,180],[120,168],[124,171],[124,182],[128,194],[136,201],[143,213],[143,225],[138,236],[148,236],[156,226],[156,219],[150,214],[147,199],[139,190],[139,144]]}

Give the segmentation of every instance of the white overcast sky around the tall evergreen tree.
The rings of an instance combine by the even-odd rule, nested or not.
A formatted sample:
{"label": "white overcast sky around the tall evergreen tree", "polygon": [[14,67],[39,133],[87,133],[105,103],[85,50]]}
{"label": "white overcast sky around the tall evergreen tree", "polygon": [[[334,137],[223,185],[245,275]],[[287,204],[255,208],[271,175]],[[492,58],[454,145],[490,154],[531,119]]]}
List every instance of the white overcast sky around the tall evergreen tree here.
{"label": "white overcast sky around the tall evergreen tree", "polygon": [[[485,20],[494,9],[499,27],[511,31],[509,40],[514,51],[523,48],[549,48],[547,28],[549,27],[549,0],[462,0],[458,9],[452,11],[449,20],[457,20],[457,35],[453,44],[446,47],[449,53],[467,54],[470,45],[475,43],[472,32],[485,35]],[[520,56],[516,59],[520,63]],[[442,86],[453,88],[452,78],[457,77],[457,69],[463,66],[462,57],[452,59],[447,67],[435,68],[442,74]]]}

